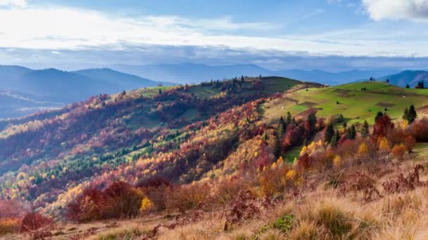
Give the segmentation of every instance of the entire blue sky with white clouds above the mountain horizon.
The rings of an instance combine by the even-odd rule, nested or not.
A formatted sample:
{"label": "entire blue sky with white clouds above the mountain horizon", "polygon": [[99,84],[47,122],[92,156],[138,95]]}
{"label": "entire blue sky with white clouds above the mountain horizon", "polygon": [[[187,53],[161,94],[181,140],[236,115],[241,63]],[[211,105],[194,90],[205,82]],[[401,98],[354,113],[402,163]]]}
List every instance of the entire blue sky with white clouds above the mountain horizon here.
{"label": "entire blue sky with white clouds above the mountain horizon", "polygon": [[428,0],[0,0],[0,64],[416,69],[427,29]]}

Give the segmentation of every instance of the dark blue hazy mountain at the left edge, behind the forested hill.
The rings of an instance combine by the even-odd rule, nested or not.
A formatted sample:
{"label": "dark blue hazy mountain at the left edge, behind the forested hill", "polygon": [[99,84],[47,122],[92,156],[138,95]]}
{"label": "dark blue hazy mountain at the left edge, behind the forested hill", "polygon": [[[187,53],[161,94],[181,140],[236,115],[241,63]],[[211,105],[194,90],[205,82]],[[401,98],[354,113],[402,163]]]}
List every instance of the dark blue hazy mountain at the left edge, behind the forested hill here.
{"label": "dark blue hazy mountain at the left edge, behind the forested hill", "polygon": [[[40,108],[79,102],[100,93],[118,93],[150,86],[173,85],[113,69],[84,69],[65,72],[58,69],[34,70],[20,66],[0,66],[0,118],[23,116]],[[13,96],[19,96],[14,98]],[[28,95],[27,100],[21,98]],[[34,102],[46,102],[44,105]],[[23,110],[25,109],[25,111]]]}

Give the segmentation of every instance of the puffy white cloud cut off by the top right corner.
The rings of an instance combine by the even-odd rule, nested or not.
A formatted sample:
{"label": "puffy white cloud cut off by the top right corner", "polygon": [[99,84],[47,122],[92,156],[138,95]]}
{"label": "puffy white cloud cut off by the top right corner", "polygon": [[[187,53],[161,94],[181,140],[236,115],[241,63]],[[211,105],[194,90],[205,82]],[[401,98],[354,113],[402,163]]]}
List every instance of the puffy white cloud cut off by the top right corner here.
{"label": "puffy white cloud cut off by the top right corner", "polygon": [[373,20],[428,20],[428,0],[362,0]]}

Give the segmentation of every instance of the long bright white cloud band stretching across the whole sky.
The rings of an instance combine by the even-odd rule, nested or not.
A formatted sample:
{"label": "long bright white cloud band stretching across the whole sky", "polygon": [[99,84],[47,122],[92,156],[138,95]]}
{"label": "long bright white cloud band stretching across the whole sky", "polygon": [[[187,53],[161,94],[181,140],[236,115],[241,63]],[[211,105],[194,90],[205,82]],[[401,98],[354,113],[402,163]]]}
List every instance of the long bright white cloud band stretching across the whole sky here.
{"label": "long bright white cloud band stretching across the whole sky", "polygon": [[[126,46],[208,46],[313,55],[428,55],[428,43],[424,39],[399,41],[397,34],[408,35],[408,32],[396,31],[396,35],[391,36],[392,33],[385,34],[385,30],[366,26],[323,34],[275,36],[267,31],[277,27],[275,25],[235,22],[229,17],[124,18],[64,7],[0,8],[0,22],[8,22],[0,24],[0,47],[49,49],[61,53],[63,50],[105,49],[106,46],[112,51],[123,50]],[[251,36],[242,32],[251,32]]]}

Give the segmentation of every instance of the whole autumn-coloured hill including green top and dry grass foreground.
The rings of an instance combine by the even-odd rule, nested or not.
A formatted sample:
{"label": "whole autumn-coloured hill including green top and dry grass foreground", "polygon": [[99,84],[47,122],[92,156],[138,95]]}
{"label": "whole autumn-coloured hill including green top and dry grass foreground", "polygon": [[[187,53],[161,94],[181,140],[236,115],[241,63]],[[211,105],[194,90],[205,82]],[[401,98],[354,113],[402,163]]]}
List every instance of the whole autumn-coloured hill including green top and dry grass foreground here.
{"label": "whole autumn-coloured hill including green top and dry grass foreground", "polygon": [[398,219],[408,236],[402,215],[428,185],[427,98],[276,76],[96,95],[0,124],[0,196],[13,199],[0,204],[44,215],[4,213],[12,229],[38,218],[32,236],[58,239],[386,238]]}

